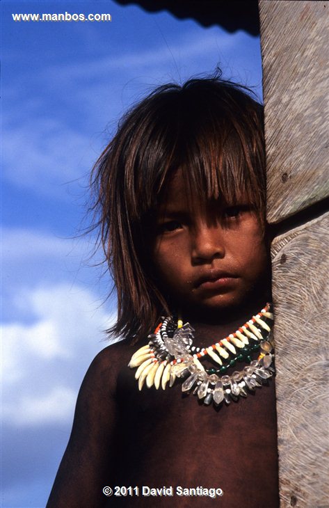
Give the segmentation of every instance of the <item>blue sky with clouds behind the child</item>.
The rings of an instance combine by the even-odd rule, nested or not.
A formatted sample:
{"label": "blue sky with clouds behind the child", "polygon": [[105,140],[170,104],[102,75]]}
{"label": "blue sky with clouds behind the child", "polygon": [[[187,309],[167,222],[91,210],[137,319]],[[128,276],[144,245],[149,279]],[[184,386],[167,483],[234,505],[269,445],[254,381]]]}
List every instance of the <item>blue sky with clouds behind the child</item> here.
{"label": "blue sky with clouds behind the child", "polygon": [[[13,22],[12,13],[111,22]],[[1,1],[2,508],[45,506],[77,390],[115,315],[79,237],[88,173],[152,86],[222,68],[262,94],[259,39],[104,1]]]}

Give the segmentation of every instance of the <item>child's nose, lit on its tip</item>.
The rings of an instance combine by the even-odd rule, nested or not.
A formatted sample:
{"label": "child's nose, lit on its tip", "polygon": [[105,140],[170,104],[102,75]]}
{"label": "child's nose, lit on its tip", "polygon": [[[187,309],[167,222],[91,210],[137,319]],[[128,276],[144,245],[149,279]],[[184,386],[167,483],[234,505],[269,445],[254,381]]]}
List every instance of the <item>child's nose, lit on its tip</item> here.
{"label": "child's nose, lit on its tip", "polygon": [[193,232],[193,262],[211,261],[216,257],[224,257],[225,246],[223,232],[219,225],[198,225]]}

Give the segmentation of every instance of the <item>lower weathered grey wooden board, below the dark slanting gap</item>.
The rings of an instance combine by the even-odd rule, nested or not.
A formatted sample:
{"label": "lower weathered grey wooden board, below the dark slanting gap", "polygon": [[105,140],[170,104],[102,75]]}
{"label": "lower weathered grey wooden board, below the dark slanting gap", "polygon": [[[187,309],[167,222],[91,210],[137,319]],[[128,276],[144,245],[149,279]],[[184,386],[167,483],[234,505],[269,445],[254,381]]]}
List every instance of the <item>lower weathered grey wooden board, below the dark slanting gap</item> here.
{"label": "lower weathered grey wooden board, below the dark slanting gap", "polygon": [[273,241],[281,508],[329,507],[329,213]]}

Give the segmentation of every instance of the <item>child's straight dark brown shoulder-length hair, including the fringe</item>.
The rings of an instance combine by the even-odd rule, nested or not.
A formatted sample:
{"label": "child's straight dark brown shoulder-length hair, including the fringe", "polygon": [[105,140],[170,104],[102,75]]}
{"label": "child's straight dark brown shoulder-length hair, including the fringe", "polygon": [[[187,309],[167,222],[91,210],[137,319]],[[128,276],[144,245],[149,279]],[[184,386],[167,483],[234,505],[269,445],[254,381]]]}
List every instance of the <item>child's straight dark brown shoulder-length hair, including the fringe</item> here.
{"label": "child's straight dark brown shoulder-length hair, including the fringe", "polygon": [[118,292],[110,335],[145,337],[168,304],[150,271],[145,218],[181,168],[201,200],[265,208],[262,105],[218,77],[160,86],[121,120],[92,174],[99,239]]}

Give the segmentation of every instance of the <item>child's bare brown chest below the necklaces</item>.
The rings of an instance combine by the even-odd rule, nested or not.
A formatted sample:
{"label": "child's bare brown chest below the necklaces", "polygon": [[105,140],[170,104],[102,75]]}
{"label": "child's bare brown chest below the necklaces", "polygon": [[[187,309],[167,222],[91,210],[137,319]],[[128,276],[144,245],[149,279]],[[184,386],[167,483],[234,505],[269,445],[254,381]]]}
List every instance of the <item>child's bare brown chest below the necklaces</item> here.
{"label": "child's bare brown chest below the necklaces", "polygon": [[[172,487],[172,495],[146,496],[159,507],[207,507],[214,498],[202,489],[222,489],[222,507],[278,507],[274,379],[246,399],[216,407],[184,395],[179,383],[139,391],[134,371],[123,368],[116,397],[118,484]],[[129,506],[145,506],[144,497]]]}

